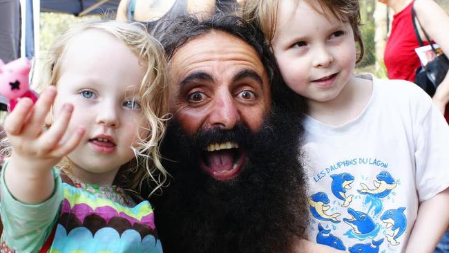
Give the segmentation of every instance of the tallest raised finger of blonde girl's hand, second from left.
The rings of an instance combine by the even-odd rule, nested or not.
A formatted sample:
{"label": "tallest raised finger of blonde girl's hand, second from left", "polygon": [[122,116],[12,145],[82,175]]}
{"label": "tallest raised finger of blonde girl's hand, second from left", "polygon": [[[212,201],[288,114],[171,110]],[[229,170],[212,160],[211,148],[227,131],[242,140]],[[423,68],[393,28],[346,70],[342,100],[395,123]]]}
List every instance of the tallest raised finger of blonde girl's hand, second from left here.
{"label": "tallest raised finger of blonde girl's hand, second from left", "polygon": [[39,99],[36,101],[35,106],[32,109],[32,115],[30,120],[28,120],[27,127],[23,129],[23,132],[30,136],[37,136],[41,133],[42,126],[45,122],[45,117],[50,111],[50,107],[55,101],[56,88],[55,86],[49,86],[45,89],[44,93],[41,94]]}

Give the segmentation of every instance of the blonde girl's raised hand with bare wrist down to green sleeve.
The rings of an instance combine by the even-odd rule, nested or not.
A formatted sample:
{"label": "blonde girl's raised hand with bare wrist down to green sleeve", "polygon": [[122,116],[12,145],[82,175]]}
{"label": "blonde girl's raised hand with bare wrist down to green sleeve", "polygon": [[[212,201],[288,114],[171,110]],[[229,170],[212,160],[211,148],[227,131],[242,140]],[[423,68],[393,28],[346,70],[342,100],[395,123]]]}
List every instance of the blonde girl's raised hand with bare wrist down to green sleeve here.
{"label": "blonde girl's raised hand with bare wrist down to green sleeve", "polygon": [[41,203],[50,197],[55,187],[52,167],[75,149],[84,135],[84,129],[77,129],[61,142],[73,111],[71,104],[63,106],[47,131],[42,130],[55,96],[56,89],[51,86],[34,105],[27,98],[21,99],[4,125],[12,148],[4,171],[6,187],[22,203]]}

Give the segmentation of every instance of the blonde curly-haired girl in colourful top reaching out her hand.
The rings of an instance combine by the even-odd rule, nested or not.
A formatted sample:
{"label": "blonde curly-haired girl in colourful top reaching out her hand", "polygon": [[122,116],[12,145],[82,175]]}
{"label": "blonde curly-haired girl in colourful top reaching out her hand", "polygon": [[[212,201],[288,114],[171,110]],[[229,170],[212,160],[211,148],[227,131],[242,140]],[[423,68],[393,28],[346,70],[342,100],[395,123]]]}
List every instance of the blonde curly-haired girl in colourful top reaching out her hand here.
{"label": "blonde curly-haired girl in colourful top reaching out her hand", "polygon": [[165,71],[162,46],[137,24],[80,24],[57,40],[48,87],[4,124],[1,252],[162,252],[150,203],[131,194],[166,178]]}

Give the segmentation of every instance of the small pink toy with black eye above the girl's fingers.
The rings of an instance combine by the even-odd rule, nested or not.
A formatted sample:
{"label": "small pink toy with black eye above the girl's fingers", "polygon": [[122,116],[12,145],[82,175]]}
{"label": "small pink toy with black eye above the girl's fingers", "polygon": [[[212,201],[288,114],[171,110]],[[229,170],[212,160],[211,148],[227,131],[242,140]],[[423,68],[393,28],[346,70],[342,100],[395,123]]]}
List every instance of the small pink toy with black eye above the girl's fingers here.
{"label": "small pink toy with black eye above the girl's fingers", "polygon": [[16,59],[4,64],[0,59],[0,95],[8,98],[9,111],[12,111],[21,97],[30,97],[36,102],[37,93],[30,90],[28,73],[31,64],[26,58]]}

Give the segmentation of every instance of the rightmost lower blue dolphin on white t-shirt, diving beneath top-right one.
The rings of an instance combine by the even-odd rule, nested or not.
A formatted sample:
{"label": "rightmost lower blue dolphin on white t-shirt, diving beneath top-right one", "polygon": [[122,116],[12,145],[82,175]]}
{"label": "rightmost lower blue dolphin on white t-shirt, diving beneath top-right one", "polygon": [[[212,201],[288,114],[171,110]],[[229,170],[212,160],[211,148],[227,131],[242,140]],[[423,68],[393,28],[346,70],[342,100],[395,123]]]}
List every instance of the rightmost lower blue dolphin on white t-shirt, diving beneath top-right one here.
{"label": "rightmost lower blue dolphin on white t-shirt, diving beneath top-right one", "polygon": [[385,237],[391,245],[399,245],[397,238],[403,234],[407,227],[407,217],[404,214],[405,207],[399,207],[398,209],[389,209],[385,211],[381,216],[381,221],[386,223],[385,227],[392,227],[393,234],[387,234]]}

